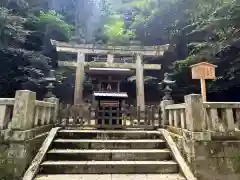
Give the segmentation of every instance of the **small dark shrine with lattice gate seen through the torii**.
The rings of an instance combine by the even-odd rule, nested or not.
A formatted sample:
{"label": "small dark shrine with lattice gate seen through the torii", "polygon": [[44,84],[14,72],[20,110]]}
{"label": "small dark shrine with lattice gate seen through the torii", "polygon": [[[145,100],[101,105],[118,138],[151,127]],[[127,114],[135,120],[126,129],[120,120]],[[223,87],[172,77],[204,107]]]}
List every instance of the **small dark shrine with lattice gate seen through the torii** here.
{"label": "small dark shrine with lattice gate seen through the torii", "polygon": [[86,74],[96,85],[92,95],[96,123],[100,128],[121,128],[128,95],[121,91],[120,83],[133,72],[124,68],[88,68]]}

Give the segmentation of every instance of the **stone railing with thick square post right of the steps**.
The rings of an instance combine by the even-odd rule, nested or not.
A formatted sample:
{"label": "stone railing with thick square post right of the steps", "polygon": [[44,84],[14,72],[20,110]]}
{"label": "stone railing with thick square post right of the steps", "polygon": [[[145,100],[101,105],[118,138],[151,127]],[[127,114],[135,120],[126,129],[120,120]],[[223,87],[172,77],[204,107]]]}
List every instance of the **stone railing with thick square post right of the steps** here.
{"label": "stone railing with thick square post right of the steps", "polygon": [[186,130],[212,136],[240,132],[239,102],[203,102],[201,95],[191,94],[182,104],[162,101],[161,108],[163,127],[174,132]]}

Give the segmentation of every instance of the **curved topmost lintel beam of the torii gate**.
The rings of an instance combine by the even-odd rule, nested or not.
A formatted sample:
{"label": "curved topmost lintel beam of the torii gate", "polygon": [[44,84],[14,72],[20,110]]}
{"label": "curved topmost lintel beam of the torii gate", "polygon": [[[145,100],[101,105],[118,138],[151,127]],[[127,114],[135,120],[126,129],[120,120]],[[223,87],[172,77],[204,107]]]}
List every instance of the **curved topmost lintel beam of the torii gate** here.
{"label": "curved topmost lintel beam of the torii gate", "polygon": [[57,51],[63,52],[82,52],[85,54],[142,54],[149,56],[162,56],[165,51],[169,50],[170,45],[157,46],[110,46],[110,45],[93,45],[93,44],[77,44],[74,42],[60,42],[51,40]]}

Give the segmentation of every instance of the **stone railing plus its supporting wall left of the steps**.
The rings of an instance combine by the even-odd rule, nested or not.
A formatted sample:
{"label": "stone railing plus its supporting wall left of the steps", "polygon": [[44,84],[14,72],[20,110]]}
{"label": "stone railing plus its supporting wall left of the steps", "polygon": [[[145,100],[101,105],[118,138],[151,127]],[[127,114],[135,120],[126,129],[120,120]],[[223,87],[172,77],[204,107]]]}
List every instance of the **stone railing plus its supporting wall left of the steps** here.
{"label": "stone railing plus its supporting wall left of the steps", "polygon": [[0,179],[21,175],[57,124],[58,99],[36,100],[36,93],[16,91],[15,98],[0,98]]}

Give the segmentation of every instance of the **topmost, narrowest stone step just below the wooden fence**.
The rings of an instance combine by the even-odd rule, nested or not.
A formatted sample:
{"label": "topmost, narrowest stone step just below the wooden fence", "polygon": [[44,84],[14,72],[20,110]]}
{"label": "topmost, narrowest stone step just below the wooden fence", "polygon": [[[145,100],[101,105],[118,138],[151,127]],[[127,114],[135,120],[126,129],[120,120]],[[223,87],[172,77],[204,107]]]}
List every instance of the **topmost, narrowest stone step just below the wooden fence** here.
{"label": "topmost, narrowest stone step just below the wooden fence", "polygon": [[162,139],[158,131],[134,130],[61,130],[57,137],[63,139]]}

